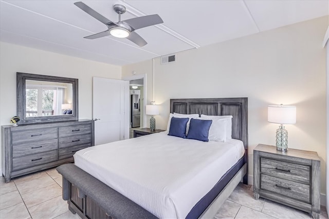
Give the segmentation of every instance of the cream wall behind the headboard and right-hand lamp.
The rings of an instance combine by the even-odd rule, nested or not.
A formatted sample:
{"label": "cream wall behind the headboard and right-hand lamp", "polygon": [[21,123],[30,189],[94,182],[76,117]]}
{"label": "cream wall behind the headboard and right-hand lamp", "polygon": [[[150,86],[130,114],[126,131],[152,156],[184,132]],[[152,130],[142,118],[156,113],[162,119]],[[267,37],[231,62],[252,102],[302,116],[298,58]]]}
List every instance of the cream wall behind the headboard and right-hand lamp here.
{"label": "cream wall behind the headboard and right-hand lamp", "polygon": [[[297,123],[286,125],[289,148],[317,151],[321,193],[325,194],[326,74],[323,35],[328,16],[177,53],[177,61],[155,60],[157,128],[166,129],[170,98],[248,97],[249,174],[253,148],[275,145],[277,124],[267,122],[267,106],[297,106]],[[147,73],[152,61],[122,67],[122,76]],[[149,77],[150,76],[150,77]],[[152,82],[152,79],[150,79]],[[151,101],[152,84],[147,85]],[[324,201],[322,195],[322,203]]]}

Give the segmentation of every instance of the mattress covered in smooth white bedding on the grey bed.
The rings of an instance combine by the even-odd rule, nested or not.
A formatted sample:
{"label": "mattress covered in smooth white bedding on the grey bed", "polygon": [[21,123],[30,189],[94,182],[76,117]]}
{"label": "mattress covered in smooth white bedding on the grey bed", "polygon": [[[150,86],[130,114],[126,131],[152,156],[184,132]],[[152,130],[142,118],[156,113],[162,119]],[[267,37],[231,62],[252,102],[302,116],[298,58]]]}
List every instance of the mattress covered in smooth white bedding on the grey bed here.
{"label": "mattress covered in smooth white bedding on the grey bed", "polygon": [[185,218],[244,155],[240,140],[201,142],[165,132],[85,148],[75,164],[159,218]]}

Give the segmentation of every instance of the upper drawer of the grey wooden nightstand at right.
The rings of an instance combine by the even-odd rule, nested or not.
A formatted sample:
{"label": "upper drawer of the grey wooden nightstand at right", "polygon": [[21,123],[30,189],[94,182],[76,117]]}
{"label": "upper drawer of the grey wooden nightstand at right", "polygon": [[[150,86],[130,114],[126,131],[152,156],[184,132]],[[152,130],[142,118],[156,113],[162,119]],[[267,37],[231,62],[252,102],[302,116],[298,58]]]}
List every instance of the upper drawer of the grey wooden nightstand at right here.
{"label": "upper drawer of the grey wooden nightstand at right", "polygon": [[309,166],[292,164],[261,157],[261,172],[309,184]]}

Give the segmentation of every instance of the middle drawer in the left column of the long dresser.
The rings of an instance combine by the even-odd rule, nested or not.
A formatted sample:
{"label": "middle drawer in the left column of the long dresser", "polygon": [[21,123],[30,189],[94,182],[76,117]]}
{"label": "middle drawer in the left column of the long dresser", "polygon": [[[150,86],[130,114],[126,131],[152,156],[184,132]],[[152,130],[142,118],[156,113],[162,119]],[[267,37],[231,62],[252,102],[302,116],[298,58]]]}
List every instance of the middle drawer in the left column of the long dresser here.
{"label": "middle drawer in the left column of the long dresser", "polygon": [[30,142],[19,145],[12,146],[12,156],[20,157],[29,154],[41,153],[45,151],[56,150],[58,145],[58,140],[47,140],[42,142]]}

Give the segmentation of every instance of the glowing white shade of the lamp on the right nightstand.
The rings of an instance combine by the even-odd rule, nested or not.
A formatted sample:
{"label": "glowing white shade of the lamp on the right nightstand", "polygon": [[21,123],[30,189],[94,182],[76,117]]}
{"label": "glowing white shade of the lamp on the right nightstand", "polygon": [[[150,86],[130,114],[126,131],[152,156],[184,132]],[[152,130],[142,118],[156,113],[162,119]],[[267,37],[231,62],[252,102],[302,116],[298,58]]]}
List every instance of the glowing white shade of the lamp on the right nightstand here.
{"label": "glowing white shade of the lamp on the right nightstand", "polygon": [[296,123],[296,106],[271,105],[268,106],[267,121],[278,124]]}

